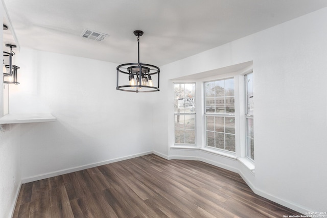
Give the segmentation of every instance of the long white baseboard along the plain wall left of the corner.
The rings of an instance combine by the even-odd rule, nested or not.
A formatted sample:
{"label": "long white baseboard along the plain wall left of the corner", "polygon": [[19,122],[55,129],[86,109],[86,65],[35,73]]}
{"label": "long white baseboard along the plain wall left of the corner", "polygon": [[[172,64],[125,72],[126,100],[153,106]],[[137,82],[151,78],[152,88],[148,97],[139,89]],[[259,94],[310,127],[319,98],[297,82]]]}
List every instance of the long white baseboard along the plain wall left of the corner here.
{"label": "long white baseboard along the plain wall left of the corner", "polygon": [[129,155],[129,156],[120,157],[120,158],[114,158],[114,159],[110,159],[110,160],[106,160],[106,161],[102,161],[102,162],[91,163],[91,164],[86,164],[86,165],[77,166],[77,167],[61,169],[59,171],[54,171],[54,172],[50,172],[50,173],[30,176],[30,177],[22,178],[21,183],[24,184],[24,183],[28,183],[28,182],[34,182],[34,181],[41,180],[41,179],[47,179],[47,178],[54,177],[54,176],[59,176],[59,175],[67,174],[67,173],[73,173],[73,172],[76,172],[76,171],[82,171],[83,169],[97,167],[97,166],[101,166],[101,165],[105,165],[105,164],[109,164],[109,163],[113,163],[113,162],[118,162],[118,161],[122,161],[122,160],[131,159],[131,158],[134,158],[134,157],[140,157],[140,156],[148,155],[148,154],[153,154],[153,151],[138,153],[138,154]]}

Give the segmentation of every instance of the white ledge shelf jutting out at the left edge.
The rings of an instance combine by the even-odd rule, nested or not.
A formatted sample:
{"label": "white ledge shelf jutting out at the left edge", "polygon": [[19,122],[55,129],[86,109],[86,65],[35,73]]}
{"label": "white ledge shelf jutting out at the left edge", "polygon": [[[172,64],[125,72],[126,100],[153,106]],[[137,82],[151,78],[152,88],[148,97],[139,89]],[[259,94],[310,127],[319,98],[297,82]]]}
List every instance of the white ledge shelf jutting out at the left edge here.
{"label": "white ledge shelf jutting out at the left edge", "polygon": [[24,124],[24,123],[40,123],[53,122],[57,118],[49,113],[37,114],[6,114],[0,118],[0,124]]}

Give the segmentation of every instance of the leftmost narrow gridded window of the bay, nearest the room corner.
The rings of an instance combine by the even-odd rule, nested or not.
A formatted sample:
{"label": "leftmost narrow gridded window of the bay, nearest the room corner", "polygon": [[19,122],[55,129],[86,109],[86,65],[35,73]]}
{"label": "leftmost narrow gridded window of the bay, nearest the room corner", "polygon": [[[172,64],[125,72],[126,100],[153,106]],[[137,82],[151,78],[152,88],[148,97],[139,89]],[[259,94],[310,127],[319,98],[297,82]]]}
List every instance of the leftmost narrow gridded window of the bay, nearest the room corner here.
{"label": "leftmost narrow gridded window of the bay, nearest the room corner", "polygon": [[175,144],[195,144],[195,83],[174,83]]}

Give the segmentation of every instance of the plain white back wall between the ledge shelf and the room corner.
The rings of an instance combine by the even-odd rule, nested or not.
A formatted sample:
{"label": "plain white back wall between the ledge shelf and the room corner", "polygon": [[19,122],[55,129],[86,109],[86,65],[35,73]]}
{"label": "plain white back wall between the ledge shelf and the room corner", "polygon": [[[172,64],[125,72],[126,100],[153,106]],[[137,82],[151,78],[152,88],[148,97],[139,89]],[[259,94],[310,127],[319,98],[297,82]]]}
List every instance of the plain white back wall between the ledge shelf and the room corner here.
{"label": "plain white back wall between the ledge shelf and the room corner", "polygon": [[10,113],[57,117],[21,124],[24,182],[152,153],[154,95],[116,90],[118,64],[24,47],[16,61]]}

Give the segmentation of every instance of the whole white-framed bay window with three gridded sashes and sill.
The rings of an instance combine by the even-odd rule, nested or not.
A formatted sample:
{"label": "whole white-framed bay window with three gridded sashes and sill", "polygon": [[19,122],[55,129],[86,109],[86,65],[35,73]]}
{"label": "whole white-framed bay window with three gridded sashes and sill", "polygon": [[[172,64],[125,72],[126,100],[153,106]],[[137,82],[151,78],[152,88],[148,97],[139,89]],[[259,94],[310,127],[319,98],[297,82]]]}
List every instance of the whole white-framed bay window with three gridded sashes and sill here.
{"label": "whole white-framed bay window with three gridded sashes and sill", "polygon": [[[201,92],[198,114],[196,89]],[[253,106],[253,71],[249,68],[226,77],[217,75],[193,83],[174,83],[174,148],[194,145],[184,148],[236,158],[252,171]]]}

